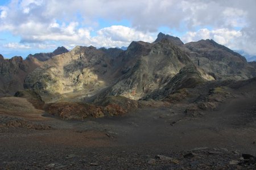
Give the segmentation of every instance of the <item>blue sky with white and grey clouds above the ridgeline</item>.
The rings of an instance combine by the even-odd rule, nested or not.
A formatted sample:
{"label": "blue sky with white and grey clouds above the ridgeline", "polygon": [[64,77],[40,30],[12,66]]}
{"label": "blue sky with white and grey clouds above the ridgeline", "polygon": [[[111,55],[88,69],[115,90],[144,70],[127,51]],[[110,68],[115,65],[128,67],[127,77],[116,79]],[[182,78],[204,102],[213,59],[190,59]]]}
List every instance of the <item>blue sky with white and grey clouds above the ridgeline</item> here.
{"label": "blue sky with white and grey clouds above the ridgeline", "polygon": [[0,53],[128,46],[159,32],[256,55],[255,0],[0,0]]}

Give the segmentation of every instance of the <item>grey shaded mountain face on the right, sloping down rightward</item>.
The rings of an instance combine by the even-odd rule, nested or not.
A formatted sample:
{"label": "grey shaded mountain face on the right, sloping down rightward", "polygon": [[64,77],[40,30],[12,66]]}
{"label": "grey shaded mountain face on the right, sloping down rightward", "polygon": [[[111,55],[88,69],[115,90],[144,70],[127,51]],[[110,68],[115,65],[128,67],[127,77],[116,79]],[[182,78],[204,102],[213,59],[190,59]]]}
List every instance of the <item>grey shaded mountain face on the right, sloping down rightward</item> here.
{"label": "grey shaded mountain face on the right, sloping down rightward", "polygon": [[255,69],[247,63],[245,57],[213,40],[189,42],[184,47],[188,49],[193,63],[215,79],[241,80],[255,76]]}

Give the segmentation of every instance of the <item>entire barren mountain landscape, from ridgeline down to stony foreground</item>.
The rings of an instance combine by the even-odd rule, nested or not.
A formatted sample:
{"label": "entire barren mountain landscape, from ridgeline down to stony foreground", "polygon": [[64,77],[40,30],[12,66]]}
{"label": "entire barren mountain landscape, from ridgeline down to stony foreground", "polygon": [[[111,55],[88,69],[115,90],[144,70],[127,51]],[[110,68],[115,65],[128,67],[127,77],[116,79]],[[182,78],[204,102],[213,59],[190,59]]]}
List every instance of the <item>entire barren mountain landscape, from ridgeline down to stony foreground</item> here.
{"label": "entire barren mountain landscape, from ridgeline down to stony foreground", "polygon": [[214,40],[0,55],[0,71],[0,169],[256,168],[256,65]]}

